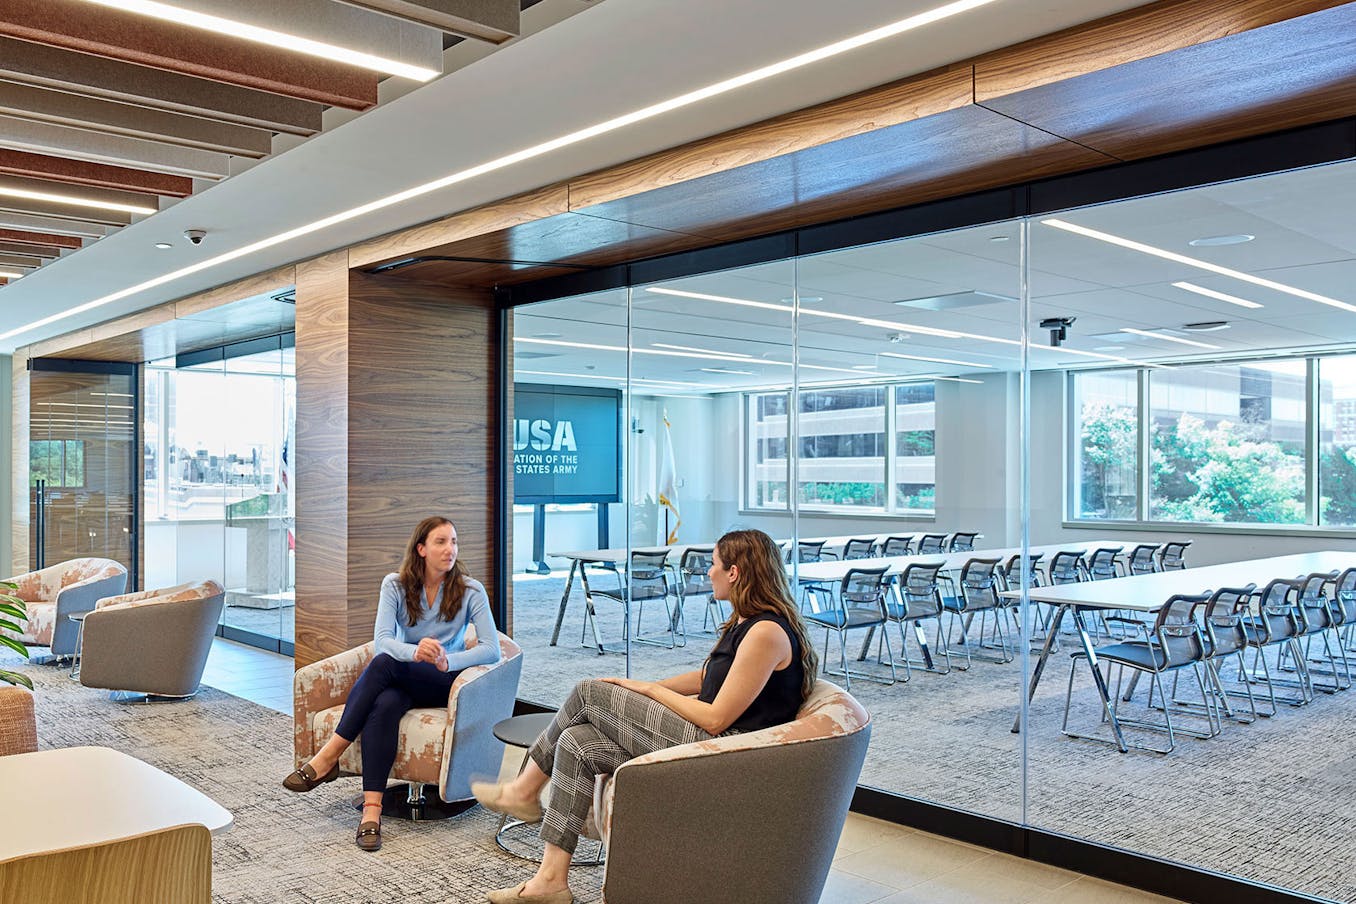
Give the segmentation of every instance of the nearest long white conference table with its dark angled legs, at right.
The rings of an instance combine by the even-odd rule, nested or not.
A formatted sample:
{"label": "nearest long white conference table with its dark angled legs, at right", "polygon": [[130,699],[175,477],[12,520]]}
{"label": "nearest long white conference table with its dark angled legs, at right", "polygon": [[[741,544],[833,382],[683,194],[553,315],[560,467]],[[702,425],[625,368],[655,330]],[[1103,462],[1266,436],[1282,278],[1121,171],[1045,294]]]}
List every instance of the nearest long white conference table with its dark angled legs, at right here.
{"label": "nearest long white conference table with its dark angled legs, at right", "polygon": [[[1050,659],[1055,637],[1064,614],[1074,613],[1074,628],[1078,632],[1078,642],[1082,645],[1088,663],[1092,667],[1093,682],[1101,695],[1102,707],[1111,722],[1116,744],[1125,752],[1125,739],[1121,733],[1120,722],[1111,702],[1106,682],[1097,667],[1097,652],[1092,642],[1092,636],[1083,625],[1083,613],[1093,609],[1123,609],[1139,613],[1153,613],[1163,607],[1169,598],[1176,595],[1207,594],[1220,587],[1245,587],[1256,584],[1261,590],[1268,581],[1277,577],[1298,577],[1313,573],[1328,573],[1342,571],[1356,565],[1356,553],[1337,550],[1323,550],[1314,553],[1298,553],[1294,556],[1273,556],[1269,558],[1252,558],[1239,562],[1226,562],[1223,565],[1205,565],[1203,568],[1185,568],[1181,571],[1158,572],[1154,575],[1135,575],[1132,577],[1115,577],[1109,580],[1085,581],[1081,584],[1058,584],[1052,587],[1032,587],[1026,596],[1032,602],[1055,606],[1055,617],[1045,630],[1045,642],[1041,646],[1040,657],[1032,667],[1031,683],[1026,690],[1026,699],[1036,695],[1036,686],[1040,684],[1040,675],[1045,671],[1045,661]],[[1013,590],[1002,594],[1009,599],[1020,599],[1021,591]],[[1013,721],[1013,732],[1021,731],[1021,713]]]}

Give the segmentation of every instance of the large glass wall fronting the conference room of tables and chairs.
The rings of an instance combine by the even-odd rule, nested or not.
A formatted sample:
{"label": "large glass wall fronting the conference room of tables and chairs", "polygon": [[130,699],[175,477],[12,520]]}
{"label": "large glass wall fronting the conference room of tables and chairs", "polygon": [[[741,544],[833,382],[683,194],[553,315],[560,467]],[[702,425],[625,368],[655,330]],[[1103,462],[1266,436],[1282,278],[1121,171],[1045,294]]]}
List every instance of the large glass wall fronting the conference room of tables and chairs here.
{"label": "large glass wall fronting the conference room of tables and chairs", "polygon": [[[864,786],[1356,900],[1336,854],[1356,819],[1342,766],[1356,697],[1353,638],[1325,622],[1342,617],[1333,581],[1307,607],[1281,587],[1272,636],[1246,621],[1256,600],[1155,629],[1174,594],[1356,567],[1353,205],[1356,164],[1333,164],[514,308],[519,385],[620,390],[624,472],[606,537],[595,506],[545,507],[551,575],[525,573],[532,510],[515,514],[522,695],[559,703],[578,678],[700,667],[725,610],[693,558],[683,569],[689,546],[769,531],[812,617],[838,606],[854,567],[841,557],[865,549],[849,541],[869,539],[856,567],[942,562],[945,607],[940,637],[918,619],[932,670],[913,622],[888,623],[894,684],[879,683],[880,630],[842,645],[811,632],[831,668],[846,652],[873,716]],[[888,538],[917,550],[925,534],[929,554],[872,561]],[[948,552],[957,534],[972,552]],[[1006,565],[1024,542],[1040,584],[1077,585],[995,614],[971,560]],[[656,548],[670,554],[645,556]],[[1178,554],[1185,571],[1121,577]],[[1006,588],[1022,583],[1014,569]],[[1285,642],[1287,625],[1309,637]],[[1246,663],[1204,661],[1229,630]],[[1181,668],[1155,682],[1168,646]],[[1117,675],[1117,656],[1140,668]],[[1162,724],[1165,699],[1173,749],[1146,752],[1169,747],[1135,725]],[[944,846],[899,869],[925,882],[971,855]]]}

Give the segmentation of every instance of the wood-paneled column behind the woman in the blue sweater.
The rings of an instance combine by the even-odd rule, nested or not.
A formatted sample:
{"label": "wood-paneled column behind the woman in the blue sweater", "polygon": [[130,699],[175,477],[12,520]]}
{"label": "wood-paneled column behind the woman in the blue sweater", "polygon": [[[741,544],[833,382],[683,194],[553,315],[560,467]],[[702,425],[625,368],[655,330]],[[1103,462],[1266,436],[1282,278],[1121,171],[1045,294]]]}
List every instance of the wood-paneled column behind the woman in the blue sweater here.
{"label": "wood-paneled column behind the woman in the blue sweater", "polygon": [[487,290],[297,267],[297,665],[372,640],[415,523],[457,523],[494,587],[496,314]]}

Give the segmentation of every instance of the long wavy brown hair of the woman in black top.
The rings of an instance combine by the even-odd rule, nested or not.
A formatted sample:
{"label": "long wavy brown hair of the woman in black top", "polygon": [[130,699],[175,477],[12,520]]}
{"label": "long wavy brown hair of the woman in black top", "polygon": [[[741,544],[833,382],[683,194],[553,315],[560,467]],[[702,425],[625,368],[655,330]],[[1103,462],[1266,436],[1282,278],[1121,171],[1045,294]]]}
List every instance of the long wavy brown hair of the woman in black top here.
{"label": "long wavy brown hair of the woman in black top", "polygon": [[753,618],[759,613],[785,618],[800,642],[800,667],[804,672],[800,699],[808,699],[815,690],[819,657],[815,656],[814,644],[805,634],[805,622],[801,621],[796,598],[791,592],[781,549],[761,530],[732,530],[716,541],[716,552],[725,568],[739,568],[739,580],[730,585],[732,611],[721,625],[721,633],[734,628],[740,618]]}

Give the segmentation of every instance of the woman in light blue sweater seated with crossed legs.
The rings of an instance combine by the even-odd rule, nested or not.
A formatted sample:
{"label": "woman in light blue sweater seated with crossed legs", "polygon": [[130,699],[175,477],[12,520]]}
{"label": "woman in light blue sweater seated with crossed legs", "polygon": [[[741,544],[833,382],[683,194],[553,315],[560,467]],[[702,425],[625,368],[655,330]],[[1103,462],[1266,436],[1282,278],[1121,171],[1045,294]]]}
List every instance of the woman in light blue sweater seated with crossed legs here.
{"label": "woman in light blue sweater seated with crossed legs", "polygon": [[[476,644],[466,648],[466,626]],[[335,733],[305,766],[283,779],[309,792],[339,778],[339,758],[362,736],[362,820],[357,843],[381,848],[381,794],[396,762],[400,717],[424,706],[446,706],[457,675],[499,661],[499,634],[490,598],[457,560],[457,529],[446,518],[424,518],[405,546],[400,571],[381,581],[374,632],[377,656],[354,683]]]}

